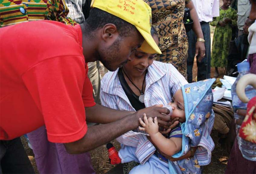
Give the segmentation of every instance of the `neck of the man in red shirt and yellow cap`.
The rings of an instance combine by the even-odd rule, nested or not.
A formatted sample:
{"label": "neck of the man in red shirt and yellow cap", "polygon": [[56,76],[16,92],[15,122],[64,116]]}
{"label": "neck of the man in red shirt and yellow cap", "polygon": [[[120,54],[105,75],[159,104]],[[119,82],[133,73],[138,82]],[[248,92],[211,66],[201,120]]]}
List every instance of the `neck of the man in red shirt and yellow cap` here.
{"label": "neck of the man in red shirt and yellow cap", "polygon": [[98,52],[97,50],[97,39],[91,39],[88,33],[85,31],[85,23],[80,24],[82,29],[82,47],[83,47],[83,54],[85,57],[85,62],[94,62],[98,60]]}

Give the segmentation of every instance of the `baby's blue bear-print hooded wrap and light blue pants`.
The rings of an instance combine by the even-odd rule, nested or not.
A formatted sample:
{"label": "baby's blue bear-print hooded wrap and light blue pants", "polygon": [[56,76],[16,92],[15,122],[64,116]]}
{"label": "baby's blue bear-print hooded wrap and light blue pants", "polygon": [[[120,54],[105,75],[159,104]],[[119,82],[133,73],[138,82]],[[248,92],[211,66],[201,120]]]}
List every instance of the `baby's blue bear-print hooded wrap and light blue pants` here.
{"label": "baby's blue bear-print hooded wrap and light blue pants", "polygon": [[[215,79],[206,79],[203,81],[186,84],[181,87],[184,98],[184,109],[186,122],[181,124],[182,130],[182,150],[172,157],[178,158],[186,154],[191,147],[201,146],[197,149],[193,158],[187,158],[179,161],[161,160],[153,154],[145,164],[134,167],[130,174],[137,173],[201,173],[200,165],[207,165],[211,161],[211,152],[214,143],[210,137],[210,132],[214,123],[213,93],[211,86]],[[201,144],[200,139],[206,139]],[[119,156],[122,163],[130,161],[139,162],[135,155],[136,148],[121,145]],[[207,153],[208,152],[208,153]]]}

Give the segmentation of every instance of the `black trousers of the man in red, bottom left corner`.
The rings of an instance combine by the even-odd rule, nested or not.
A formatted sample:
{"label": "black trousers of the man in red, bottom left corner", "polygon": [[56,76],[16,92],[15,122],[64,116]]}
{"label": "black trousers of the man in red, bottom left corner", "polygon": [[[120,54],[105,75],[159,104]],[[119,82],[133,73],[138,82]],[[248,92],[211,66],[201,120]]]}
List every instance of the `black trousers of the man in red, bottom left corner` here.
{"label": "black trousers of the man in red, bottom left corner", "polygon": [[20,137],[1,141],[1,169],[2,173],[34,173]]}

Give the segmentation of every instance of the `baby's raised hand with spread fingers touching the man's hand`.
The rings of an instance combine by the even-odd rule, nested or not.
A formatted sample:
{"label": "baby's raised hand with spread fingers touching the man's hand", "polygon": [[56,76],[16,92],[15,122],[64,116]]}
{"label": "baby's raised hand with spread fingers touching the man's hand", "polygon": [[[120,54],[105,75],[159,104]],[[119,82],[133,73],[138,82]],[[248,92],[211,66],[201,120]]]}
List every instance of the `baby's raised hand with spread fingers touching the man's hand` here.
{"label": "baby's raised hand with spread fingers touching the man's hand", "polygon": [[144,122],[142,121],[141,118],[139,118],[139,123],[143,126],[139,126],[139,130],[144,130],[146,131],[150,136],[158,133],[158,121],[157,117],[154,118],[154,122],[152,117],[147,118],[146,114],[143,114],[143,119]]}

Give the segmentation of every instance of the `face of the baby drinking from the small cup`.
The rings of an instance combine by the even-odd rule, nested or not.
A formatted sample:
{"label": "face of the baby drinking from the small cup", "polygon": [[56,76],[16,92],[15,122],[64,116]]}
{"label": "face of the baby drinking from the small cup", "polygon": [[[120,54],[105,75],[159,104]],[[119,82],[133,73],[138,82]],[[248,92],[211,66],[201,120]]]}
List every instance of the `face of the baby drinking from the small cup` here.
{"label": "face of the baby drinking from the small cup", "polygon": [[185,110],[184,110],[184,99],[181,89],[179,89],[172,98],[173,102],[168,103],[172,107],[171,119],[179,117],[181,123],[186,121]]}

